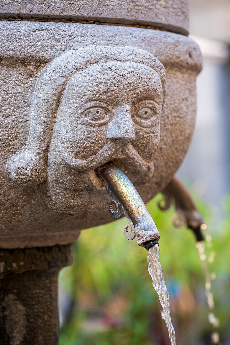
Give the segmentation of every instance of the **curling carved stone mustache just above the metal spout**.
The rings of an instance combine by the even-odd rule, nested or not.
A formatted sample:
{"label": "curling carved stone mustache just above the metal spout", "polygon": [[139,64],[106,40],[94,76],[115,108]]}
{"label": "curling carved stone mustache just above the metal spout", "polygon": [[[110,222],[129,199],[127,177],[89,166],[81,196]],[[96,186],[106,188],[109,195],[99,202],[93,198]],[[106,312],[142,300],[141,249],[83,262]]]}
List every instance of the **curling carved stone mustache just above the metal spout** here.
{"label": "curling carved stone mustache just above the metal spout", "polygon": [[149,164],[143,160],[131,143],[121,144],[108,142],[97,154],[86,159],[71,157],[63,147],[59,147],[59,154],[63,162],[71,169],[87,171],[96,169],[110,160],[120,161],[128,171],[138,171],[138,174],[153,169],[153,163]]}

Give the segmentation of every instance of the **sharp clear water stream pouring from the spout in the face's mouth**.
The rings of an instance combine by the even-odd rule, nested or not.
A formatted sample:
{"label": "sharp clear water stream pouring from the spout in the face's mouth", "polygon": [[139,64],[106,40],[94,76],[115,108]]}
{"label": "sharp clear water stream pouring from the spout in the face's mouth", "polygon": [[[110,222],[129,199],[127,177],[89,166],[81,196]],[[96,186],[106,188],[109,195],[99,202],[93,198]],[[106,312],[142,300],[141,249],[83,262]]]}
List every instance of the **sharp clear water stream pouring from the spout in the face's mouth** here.
{"label": "sharp clear water stream pouring from the spout in the face's mouth", "polygon": [[164,274],[159,261],[160,249],[158,245],[148,249],[148,272],[153,280],[153,287],[156,290],[162,305],[161,317],[165,321],[169,331],[171,345],[176,345],[175,331],[172,325],[169,309],[169,292],[165,285]]}

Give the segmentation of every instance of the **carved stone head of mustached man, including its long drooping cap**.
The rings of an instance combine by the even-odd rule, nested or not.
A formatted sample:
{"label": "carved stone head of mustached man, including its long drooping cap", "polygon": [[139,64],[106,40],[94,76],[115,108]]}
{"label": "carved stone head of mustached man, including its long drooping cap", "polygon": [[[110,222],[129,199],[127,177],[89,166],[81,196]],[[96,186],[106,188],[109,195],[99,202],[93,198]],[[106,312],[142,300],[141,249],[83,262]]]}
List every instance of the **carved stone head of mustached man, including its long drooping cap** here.
{"label": "carved stone head of mustached man, including its long drooping cap", "polygon": [[145,50],[65,52],[38,79],[27,144],[8,159],[9,177],[37,185],[50,209],[81,227],[103,222],[109,197],[98,169],[113,161],[138,186],[150,181],[164,95],[164,66]]}

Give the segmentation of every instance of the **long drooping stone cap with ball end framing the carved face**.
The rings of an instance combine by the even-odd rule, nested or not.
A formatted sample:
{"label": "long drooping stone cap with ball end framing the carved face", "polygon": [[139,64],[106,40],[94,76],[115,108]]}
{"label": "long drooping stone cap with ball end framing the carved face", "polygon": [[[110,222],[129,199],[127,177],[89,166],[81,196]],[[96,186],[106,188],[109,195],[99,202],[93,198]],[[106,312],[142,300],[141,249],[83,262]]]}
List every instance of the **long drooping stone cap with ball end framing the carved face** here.
{"label": "long drooping stone cap with ball end framing the carved face", "polygon": [[68,79],[89,65],[106,61],[143,63],[156,70],[165,89],[164,66],[142,49],[87,46],[55,58],[45,67],[35,88],[26,147],[7,162],[8,175],[15,183],[33,185],[44,181],[55,115]]}

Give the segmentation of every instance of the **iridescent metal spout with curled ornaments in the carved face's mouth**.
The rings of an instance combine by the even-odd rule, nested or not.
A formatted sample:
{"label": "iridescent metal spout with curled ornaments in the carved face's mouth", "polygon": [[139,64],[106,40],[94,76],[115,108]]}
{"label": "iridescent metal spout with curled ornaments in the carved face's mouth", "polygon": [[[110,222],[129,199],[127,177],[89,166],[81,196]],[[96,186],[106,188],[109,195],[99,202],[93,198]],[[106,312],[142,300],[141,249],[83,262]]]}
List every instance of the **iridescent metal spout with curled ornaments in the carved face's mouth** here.
{"label": "iridescent metal spout with curled ornaments in the carved face's mouth", "polygon": [[156,244],[160,239],[159,231],[143,200],[125,173],[111,163],[102,168],[99,174],[105,181],[107,193],[114,199],[109,204],[111,216],[120,218],[124,210],[125,218],[129,223],[124,230],[126,238],[134,239],[136,237],[138,245],[142,247],[150,242],[152,245]]}

